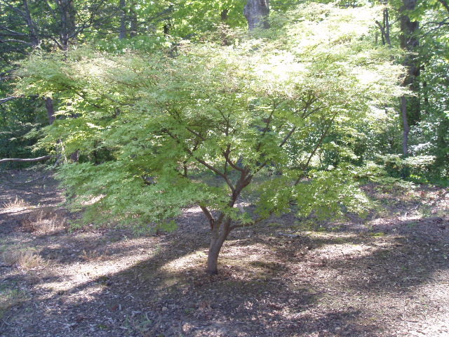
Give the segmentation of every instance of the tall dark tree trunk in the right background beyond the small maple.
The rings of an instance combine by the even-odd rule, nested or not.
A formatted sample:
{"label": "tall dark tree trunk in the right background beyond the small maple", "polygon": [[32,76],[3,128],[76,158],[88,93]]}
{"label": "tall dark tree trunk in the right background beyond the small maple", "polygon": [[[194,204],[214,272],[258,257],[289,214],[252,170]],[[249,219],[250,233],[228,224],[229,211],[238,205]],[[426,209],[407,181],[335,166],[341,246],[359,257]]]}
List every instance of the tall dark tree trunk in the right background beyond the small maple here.
{"label": "tall dark tree trunk in the right background beyond the small maple", "polygon": [[[410,20],[408,11],[413,11],[416,7],[417,0],[402,0],[403,6],[399,8],[401,14],[401,48],[406,52],[406,58],[403,65],[407,67],[406,78],[403,81],[403,86],[410,88],[414,93],[418,93],[419,85],[417,84],[417,77],[420,75],[420,64],[417,59],[417,48],[420,41],[416,36],[417,29],[420,25],[417,21]],[[416,96],[403,96],[401,98],[401,114],[403,120],[403,155],[408,156],[408,133],[410,126],[417,124],[420,121],[420,98]]]}

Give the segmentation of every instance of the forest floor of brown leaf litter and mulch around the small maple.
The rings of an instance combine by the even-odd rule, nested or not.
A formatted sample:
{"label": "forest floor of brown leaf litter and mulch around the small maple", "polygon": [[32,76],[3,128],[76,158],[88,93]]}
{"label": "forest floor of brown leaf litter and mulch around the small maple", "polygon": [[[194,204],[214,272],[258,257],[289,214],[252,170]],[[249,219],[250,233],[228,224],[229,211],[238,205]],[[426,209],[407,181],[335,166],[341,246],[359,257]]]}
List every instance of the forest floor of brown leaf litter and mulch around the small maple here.
{"label": "forest floor of brown leaf litter and mulch around the small maple", "polygon": [[0,336],[449,336],[448,189],[367,185],[368,218],[236,230],[209,277],[199,209],[169,234],[69,232],[42,174],[0,173]]}

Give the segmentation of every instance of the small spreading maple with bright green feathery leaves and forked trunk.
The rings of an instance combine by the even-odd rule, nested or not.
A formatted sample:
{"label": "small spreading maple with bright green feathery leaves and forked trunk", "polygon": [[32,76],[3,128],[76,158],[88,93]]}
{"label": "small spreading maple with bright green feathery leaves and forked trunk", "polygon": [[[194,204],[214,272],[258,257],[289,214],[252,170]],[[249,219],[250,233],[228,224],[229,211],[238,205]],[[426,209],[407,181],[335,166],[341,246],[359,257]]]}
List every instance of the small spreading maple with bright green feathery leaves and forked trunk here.
{"label": "small spreading maple with bright green feathery leaves and forked trunk", "polygon": [[[360,13],[310,4],[290,14],[302,20],[274,18],[276,39],[185,41],[176,58],[36,53],[17,72],[18,94],[66,103],[56,113],[67,118],[48,126],[39,146],[63,140],[67,153],[80,151],[60,178],[86,221],[171,227],[196,204],[210,225],[207,271],[215,274],[236,228],[274,213],[368,207],[344,163],[314,170],[330,132],[379,119],[377,107],[402,94],[391,49],[367,39],[374,12]],[[273,168],[278,174],[267,176]],[[249,186],[255,209],[241,204]]]}

